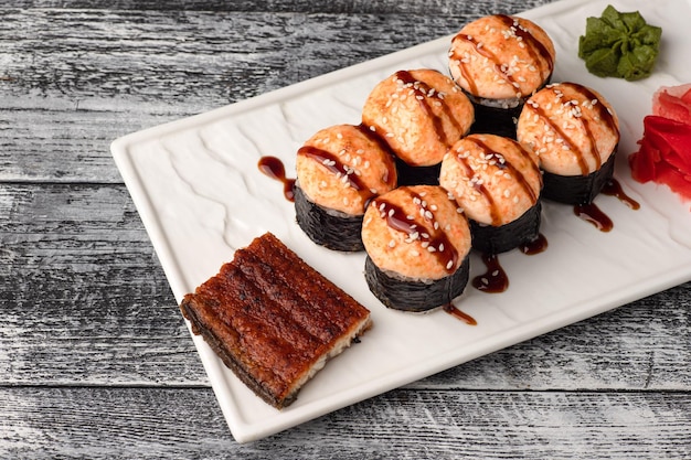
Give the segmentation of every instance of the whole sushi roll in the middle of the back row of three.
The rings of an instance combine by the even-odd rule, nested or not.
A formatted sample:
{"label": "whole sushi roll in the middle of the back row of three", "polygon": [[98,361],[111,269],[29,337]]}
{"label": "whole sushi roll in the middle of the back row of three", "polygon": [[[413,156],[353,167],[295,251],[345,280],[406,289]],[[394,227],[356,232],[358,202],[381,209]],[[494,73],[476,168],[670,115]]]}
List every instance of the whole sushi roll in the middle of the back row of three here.
{"label": "whole sushi roll in the middle of the back row of three", "polygon": [[368,96],[362,122],[396,156],[402,185],[438,184],[446,150],[465,136],[472,105],[446,75],[422,68],[400,71]]}

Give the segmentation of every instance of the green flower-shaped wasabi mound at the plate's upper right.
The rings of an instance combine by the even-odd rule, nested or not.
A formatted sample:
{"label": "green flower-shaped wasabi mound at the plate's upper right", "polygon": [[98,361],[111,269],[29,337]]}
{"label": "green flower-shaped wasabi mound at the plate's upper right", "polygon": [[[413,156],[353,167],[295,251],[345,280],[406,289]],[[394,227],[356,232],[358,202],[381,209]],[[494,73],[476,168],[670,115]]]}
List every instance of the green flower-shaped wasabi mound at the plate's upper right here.
{"label": "green flower-shaped wasabi mound at the plate's upper right", "polygon": [[662,29],[646,23],[638,11],[620,13],[608,6],[602,18],[588,18],[578,39],[578,57],[594,75],[646,78],[658,57]]}

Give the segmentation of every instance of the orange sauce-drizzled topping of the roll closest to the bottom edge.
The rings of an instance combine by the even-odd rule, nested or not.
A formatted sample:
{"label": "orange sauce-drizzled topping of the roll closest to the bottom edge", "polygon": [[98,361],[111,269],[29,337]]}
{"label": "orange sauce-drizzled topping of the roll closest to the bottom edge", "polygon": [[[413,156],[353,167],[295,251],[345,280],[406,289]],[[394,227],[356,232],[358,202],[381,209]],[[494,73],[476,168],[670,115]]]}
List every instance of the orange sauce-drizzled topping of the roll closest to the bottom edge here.
{"label": "orange sauce-drizzled topping of the roll closest to the bottom edge", "polygon": [[440,279],[455,272],[470,250],[470,229],[443,188],[402,186],[368,206],[362,240],[382,270]]}

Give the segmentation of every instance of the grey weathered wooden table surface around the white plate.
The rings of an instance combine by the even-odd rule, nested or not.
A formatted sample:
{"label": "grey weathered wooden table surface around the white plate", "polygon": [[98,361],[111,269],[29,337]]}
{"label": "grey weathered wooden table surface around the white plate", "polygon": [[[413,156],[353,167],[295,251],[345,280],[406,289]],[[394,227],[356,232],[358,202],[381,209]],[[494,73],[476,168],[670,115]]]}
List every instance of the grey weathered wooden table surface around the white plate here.
{"label": "grey weathered wooden table surface around the white plate", "polygon": [[691,282],[236,443],[110,157],[545,2],[3,2],[0,458],[691,458]]}

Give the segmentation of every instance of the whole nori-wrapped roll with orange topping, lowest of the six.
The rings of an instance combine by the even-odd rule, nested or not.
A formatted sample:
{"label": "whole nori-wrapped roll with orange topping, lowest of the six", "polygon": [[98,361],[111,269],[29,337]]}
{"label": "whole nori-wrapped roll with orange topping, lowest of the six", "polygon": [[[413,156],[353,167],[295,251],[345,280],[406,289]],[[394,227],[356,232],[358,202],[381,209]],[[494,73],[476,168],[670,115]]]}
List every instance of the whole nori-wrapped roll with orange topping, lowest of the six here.
{"label": "whole nori-wrapped roll with orange topping, lowest of the six", "polygon": [[443,307],[468,282],[470,228],[438,185],[402,186],[374,199],[364,214],[362,240],[368,286],[389,308]]}

